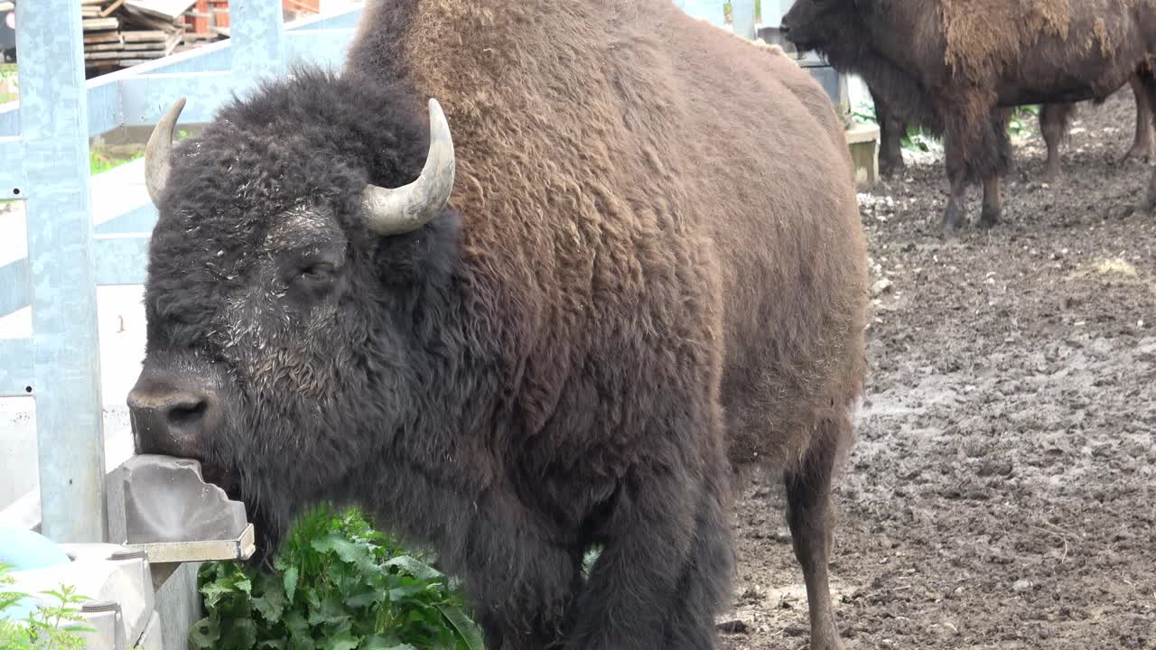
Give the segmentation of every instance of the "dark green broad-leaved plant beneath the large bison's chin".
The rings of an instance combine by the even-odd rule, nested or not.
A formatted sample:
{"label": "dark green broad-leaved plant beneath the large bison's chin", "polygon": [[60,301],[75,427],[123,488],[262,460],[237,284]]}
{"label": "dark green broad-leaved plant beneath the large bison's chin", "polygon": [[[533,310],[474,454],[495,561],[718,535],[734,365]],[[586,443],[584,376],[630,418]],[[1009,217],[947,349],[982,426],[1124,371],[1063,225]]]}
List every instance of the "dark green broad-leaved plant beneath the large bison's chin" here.
{"label": "dark green broad-leaved plant beneath the large bison's chin", "polygon": [[455,581],[356,509],[319,507],[281,545],[274,570],[202,566],[208,615],[193,650],[483,650]]}

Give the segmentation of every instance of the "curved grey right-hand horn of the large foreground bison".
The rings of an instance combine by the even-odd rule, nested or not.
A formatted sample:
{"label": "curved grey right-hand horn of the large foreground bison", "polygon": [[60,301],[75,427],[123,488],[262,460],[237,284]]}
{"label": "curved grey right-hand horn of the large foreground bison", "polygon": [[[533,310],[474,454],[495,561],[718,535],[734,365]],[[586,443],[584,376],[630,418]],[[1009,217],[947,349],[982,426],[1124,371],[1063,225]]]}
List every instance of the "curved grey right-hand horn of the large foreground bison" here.
{"label": "curved grey right-hand horn of the large foreground bison", "polygon": [[430,99],[430,150],[425,167],[413,183],[386,189],[368,185],[362,193],[366,226],[379,235],[400,235],[437,216],[453,191],[453,140],[437,99]]}

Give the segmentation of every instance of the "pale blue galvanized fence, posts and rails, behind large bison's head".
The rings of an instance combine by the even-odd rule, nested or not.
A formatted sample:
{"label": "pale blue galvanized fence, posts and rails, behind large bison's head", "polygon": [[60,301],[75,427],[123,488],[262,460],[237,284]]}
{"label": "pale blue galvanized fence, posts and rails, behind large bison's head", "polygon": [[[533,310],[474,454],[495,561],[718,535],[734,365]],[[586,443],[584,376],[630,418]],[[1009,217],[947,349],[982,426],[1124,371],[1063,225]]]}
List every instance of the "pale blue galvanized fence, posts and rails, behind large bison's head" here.
{"label": "pale blue galvanized fence, posts and rails, behind large bison's head", "polygon": [[25,202],[28,257],[0,266],[0,317],[31,306],[32,335],[0,339],[0,397],[36,400],[40,531],[106,539],[96,287],[144,281],[148,201],[94,226],[89,136],[156,124],[187,96],[183,124],[296,61],[339,67],[361,9],[283,24],[276,0],[234,0],[231,38],[84,79],[76,0],[16,6],[20,101],[0,106],[0,199]]}

